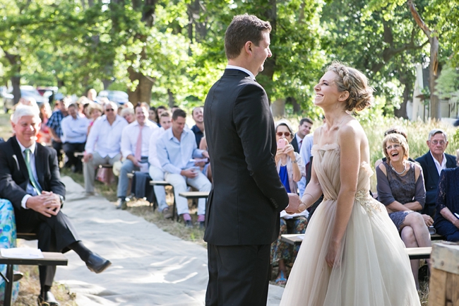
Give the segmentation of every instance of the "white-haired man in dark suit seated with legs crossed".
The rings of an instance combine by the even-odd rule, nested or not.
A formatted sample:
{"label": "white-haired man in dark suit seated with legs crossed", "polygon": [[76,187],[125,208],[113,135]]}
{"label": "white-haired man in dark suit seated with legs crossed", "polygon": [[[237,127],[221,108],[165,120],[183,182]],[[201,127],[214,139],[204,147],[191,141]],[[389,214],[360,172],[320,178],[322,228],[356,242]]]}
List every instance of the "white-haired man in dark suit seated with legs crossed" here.
{"label": "white-haired man in dark suit seated with legs crossed", "polygon": [[[38,235],[43,252],[73,249],[95,273],[110,261],[87,249],[64,213],[66,189],[60,180],[56,151],[37,143],[40,117],[35,107],[18,105],[11,117],[15,136],[0,143],[0,198],[14,206],[18,232]],[[40,266],[40,305],[59,305],[50,292],[56,266]]]}

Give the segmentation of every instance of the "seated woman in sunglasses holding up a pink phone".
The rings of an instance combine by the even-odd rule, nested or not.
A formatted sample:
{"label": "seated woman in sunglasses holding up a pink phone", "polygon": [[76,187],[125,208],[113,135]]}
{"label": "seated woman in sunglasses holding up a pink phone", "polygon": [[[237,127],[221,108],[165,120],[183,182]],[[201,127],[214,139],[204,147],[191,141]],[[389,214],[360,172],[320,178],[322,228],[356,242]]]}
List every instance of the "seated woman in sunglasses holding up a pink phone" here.
{"label": "seated woman in sunglasses holding up a pink phone", "polygon": [[[293,132],[290,124],[280,121],[275,126],[275,138],[278,142],[278,151],[275,154],[275,165],[278,169],[280,181],[284,184],[285,190],[296,194],[298,191],[297,182],[306,175],[306,167],[301,155],[294,151],[292,146]],[[271,244],[271,264],[278,265],[278,276],[275,283],[285,285],[287,283],[287,269],[285,264],[293,263],[299,251],[298,246],[290,246],[282,242],[281,235],[304,234],[308,223],[309,212],[304,210],[301,213],[290,215],[285,211],[280,212],[280,231],[278,239]]]}

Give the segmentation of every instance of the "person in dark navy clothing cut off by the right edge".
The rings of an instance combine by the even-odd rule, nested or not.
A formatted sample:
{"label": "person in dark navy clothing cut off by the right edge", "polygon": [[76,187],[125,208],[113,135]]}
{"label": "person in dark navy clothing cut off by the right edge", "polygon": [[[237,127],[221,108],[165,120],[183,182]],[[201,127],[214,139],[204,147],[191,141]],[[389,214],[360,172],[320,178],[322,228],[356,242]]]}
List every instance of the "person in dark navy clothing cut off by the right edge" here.
{"label": "person in dark navy clothing cut off by the right edge", "polygon": [[[456,162],[459,162],[459,150]],[[441,171],[436,212],[436,233],[445,236],[448,241],[459,241],[459,167]]]}

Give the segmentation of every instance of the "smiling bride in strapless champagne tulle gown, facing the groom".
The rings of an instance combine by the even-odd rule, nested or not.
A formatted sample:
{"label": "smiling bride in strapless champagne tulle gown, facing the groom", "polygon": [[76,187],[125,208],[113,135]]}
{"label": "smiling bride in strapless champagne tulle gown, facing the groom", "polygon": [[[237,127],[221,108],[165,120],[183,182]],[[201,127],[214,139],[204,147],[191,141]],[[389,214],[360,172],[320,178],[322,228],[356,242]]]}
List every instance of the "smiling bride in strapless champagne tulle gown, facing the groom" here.
{"label": "smiling bride in strapless champagne tulle gown, facing the groom", "polygon": [[420,305],[405,245],[383,204],[369,195],[369,144],[350,115],[373,100],[360,71],[333,62],[314,87],[326,123],[314,132],[311,182],[299,210],[323,193],[280,305]]}

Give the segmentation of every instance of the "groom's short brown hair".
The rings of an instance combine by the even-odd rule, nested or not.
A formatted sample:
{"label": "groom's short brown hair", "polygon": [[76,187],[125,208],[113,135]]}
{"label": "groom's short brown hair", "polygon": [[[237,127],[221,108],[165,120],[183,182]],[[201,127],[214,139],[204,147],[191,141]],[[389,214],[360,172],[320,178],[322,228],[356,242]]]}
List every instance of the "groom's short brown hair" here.
{"label": "groom's short brown hair", "polygon": [[258,47],[263,38],[263,31],[271,32],[269,21],[263,21],[254,15],[234,16],[225,33],[225,53],[227,59],[235,59],[241,54],[246,42],[253,42]]}

